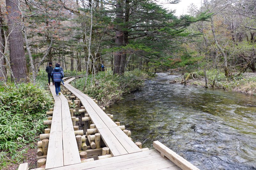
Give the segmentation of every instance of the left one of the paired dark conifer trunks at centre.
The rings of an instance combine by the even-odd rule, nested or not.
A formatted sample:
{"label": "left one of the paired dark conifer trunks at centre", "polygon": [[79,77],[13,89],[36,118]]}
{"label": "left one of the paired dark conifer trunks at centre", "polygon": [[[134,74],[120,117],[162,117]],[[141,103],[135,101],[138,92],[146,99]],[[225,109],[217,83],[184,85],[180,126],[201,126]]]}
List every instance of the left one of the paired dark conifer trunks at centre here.
{"label": "left one of the paired dark conifer trunks at centre", "polygon": [[[123,8],[122,8],[122,0],[116,0],[116,22],[117,22],[117,30],[116,30],[116,46],[123,46],[124,44],[124,33],[122,32],[122,26],[118,24],[122,24],[124,20],[123,16]],[[113,74],[120,74],[120,64],[121,64],[122,52],[115,53],[115,61],[114,61],[114,70]]]}

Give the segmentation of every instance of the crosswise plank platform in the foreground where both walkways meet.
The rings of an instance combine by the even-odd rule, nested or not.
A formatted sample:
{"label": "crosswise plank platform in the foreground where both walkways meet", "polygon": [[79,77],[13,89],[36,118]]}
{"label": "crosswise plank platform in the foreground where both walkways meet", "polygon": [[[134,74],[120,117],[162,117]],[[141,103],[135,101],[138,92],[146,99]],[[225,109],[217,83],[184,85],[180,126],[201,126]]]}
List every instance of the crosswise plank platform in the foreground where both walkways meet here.
{"label": "crosswise plank platform in the foreground where both walkways meet", "polygon": [[156,150],[130,153],[108,159],[94,160],[90,162],[69,165],[50,170],[148,170],[148,169],[168,169],[181,170],[172,161],[163,158]]}

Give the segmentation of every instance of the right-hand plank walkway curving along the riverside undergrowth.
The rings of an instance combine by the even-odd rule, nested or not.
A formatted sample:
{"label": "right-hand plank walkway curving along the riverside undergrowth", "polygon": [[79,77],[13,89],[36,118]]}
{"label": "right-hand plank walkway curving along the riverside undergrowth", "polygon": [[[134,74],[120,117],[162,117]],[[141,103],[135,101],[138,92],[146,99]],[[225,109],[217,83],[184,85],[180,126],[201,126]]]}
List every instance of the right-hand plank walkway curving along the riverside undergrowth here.
{"label": "right-hand plank walkway curving along the riverside undergrowth", "polygon": [[87,95],[70,84],[70,78],[65,81],[65,87],[78,97],[83,104],[86,112],[89,114],[91,121],[95,124],[97,131],[100,133],[102,140],[110,149],[112,156],[119,156],[128,153],[141,152],[141,149],[124,134],[124,132],[100,109],[100,107]]}

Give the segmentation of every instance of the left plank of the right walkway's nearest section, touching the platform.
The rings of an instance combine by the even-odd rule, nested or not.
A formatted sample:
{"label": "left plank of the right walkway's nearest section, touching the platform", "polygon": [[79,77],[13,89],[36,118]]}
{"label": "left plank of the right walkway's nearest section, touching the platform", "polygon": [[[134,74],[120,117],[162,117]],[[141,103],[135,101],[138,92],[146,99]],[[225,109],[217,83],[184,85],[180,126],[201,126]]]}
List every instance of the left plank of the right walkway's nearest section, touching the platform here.
{"label": "left plank of the right walkway's nearest section, touching the platform", "polygon": [[108,128],[98,129],[98,132],[100,133],[102,140],[108,146],[112,156],[124,155],[128,153]]}

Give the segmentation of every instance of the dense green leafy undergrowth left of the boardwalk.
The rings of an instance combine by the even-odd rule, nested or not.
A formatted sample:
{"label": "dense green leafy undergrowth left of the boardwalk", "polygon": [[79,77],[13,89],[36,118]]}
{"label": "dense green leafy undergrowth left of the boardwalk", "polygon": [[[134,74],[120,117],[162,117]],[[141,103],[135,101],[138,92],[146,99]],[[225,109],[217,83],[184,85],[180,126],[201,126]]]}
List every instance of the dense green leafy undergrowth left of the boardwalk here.
{"label": "dense green leafy undergrowth left of the boardwalk", "polygon": [[[0,169],[11,159],[22,160],[25,146],[36,141],[44,129],[45,111],[52,107],[52,98],[45,90],[31,83],[0,84]],[[8,158],[7,158],[8,157]]]}

